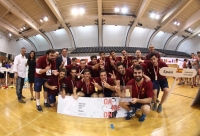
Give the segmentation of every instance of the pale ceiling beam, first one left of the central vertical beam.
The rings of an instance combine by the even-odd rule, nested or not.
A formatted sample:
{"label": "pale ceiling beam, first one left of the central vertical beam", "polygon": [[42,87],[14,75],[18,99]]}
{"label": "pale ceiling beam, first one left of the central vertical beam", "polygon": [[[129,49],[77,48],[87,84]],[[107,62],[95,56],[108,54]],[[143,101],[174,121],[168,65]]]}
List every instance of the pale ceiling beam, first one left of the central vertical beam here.
{"label": "pale ceiling beam, first one left of the central vertical beam", "polygon": [[73,37],[69,27],[66,25],[66,22],[65,22],[63,16],[61,15],[61,13],[60,13],[60,10],[57,7],[58,4],[54,0],[45,0],[45,2],[47,3],[47,5],[51,9],[51,11],[54,13],[54,15],[56,16],[56,18],[58,19],[58,21],[60,22],[62,27],[64,27],[64,29],[68,33],[70,41],[71,41],[71,46],[72,46],[72,48],[75,49],[76,45],[75,45],[74,37]]}

